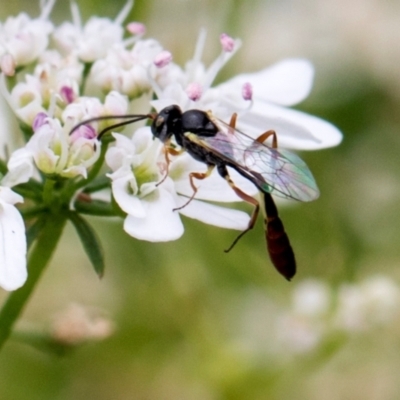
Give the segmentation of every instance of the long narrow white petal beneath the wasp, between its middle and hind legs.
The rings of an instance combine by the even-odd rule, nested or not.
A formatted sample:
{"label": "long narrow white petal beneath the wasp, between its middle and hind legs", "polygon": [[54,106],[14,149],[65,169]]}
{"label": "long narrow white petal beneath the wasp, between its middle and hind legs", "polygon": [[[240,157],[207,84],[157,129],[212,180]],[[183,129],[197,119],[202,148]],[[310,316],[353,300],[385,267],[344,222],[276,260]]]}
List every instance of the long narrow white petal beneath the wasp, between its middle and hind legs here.
{"label": "long narrow white petal beneath the wasp, between its middle and hind legs", "polygon": [[[187,199],[181,197],[182,204]],[[192,200],[186,207],[179,211],[189,218],[197,219],[214,226],[227,229],[245,230],[249,224],[250,217],[243,211],[219,207],[202,201]]]}

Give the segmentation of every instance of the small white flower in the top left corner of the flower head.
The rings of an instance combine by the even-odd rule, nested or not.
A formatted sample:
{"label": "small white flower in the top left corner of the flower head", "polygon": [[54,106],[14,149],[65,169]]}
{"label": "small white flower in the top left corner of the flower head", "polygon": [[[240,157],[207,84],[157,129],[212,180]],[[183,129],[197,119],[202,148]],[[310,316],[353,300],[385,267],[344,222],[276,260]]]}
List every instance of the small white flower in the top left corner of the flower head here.
{"label": "small white flower in the top left corner of the flower head", "polygon": [[[28,15],[21,13],[17,17],[9,17],[0,25],[0,58],[11,56],[14,68],[25,66],[36,60],[47,48],[49,35],[53,25],[46,20],[54,0],[44,3],[41,16],[38,19],[30,19]],[[13,75],[11,70],[6,71]]]}

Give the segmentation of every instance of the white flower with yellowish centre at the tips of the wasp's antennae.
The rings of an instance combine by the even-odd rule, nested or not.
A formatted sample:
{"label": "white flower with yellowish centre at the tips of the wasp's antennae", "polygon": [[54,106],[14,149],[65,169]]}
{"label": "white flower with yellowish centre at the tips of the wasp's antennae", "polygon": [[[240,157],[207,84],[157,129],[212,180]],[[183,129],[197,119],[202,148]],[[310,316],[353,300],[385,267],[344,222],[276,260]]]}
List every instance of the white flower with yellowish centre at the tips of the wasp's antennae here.
{"label": "white flower with yellowish centre at the tips of the wasp's antennae", "polygon": [[[29,113],[29,122],[34,134],[25,147],[12,153],[3,181],[8,186],[27,182],[35,174],[34,165],[45,174],[69,178],[81,175],[85,178],[88,168],[100,155],[101,143],[97,140],[96,131],[106,128],[113,121],[99,122],[96,131],[92,126],[83,125],[70,135],[72,127],[93,117],[125,114],[127,107],[126,98],[117,92],[109,93],[104,104],[97,98],[80,97],[63,111],[61,120],[64,124],[57,118],[48,117],[41,108],[33,108]],[[33,112],[38,110],[33,116]]]}

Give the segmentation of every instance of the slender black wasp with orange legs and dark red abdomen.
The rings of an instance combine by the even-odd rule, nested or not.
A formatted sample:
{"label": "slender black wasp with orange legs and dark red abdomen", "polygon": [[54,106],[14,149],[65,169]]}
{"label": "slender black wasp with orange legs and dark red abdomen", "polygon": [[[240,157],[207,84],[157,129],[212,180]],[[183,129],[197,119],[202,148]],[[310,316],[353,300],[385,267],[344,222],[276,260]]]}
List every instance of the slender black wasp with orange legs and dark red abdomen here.
{"label": "slender black wasp with orange legs and dark red abdomen", "polygon": [[[177,105],[165,107],[158,114],[92,118],[76,125],[73,131],[94,121],[124,120],[99,132],[98,138],[101,139],[104,133],[112,129],[147,118],[153,121],[151,125],[153,136],[164,143],[167,174],[170,163],[169,156],[178,155],[183,151],[207,165],[206,172],[189,174],[193,194],[180,208],[185,207],[195,197],[197,192],[195,179],[207,178],[215,168],[238,197],[253,205],[254,209],[247,229],[239,234],[232,245],[225,250],[226,252],[230,251],[238,240],[254,227],[260,210],[259,201],[235,185],[229,176],[227,167],[236,170],[260,190],[265,213],[265,237],[268,253],[278,272],[290,280],[296,273],[295,256],[271,194],[299,201],[316,199],[319,191],[304,161],[287,150],[278,150],[277,137],[273,130],[253,139],[236,129],[236,114],[227,124],[215,118],[210,112],[201,110],[182,112]],[[272,146],[264,143],[270,137]],[[179,148],[172,143],[173,139]]]}

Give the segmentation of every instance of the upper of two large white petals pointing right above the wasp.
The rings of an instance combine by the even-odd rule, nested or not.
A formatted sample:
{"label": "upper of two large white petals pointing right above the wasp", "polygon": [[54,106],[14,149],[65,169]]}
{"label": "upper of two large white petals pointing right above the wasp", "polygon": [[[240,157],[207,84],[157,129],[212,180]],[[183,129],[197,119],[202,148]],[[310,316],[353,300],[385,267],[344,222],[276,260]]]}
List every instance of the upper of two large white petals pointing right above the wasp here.
{"label": "upper of two large white petals pointing right above the wasp", "polygon": [[253,87],[253,99],[291,106],[304,100],[310,93],[314,68],[305,59],[288,59],[262,71],[241,74],[218,86],[229,96],[241,93],[244,83]]}

